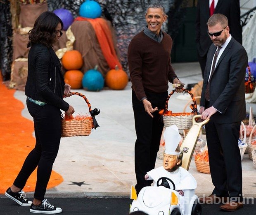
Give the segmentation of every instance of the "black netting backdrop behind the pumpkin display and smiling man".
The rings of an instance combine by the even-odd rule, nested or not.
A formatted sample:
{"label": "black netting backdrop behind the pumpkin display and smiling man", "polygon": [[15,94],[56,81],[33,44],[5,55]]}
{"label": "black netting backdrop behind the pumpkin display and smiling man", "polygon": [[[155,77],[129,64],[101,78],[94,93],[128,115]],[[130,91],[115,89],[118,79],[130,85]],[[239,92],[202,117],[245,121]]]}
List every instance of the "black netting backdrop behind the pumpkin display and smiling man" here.
{"label": "black netting backdrop behind the pumpkin display and smiling man", "polygon": [[[127,49],[130,40],[146,25],[145,12],[155,0],[96,0],[102,7],[102,16],[111,21],[116,30],[117,47],[123,69],[128,72]],[[188,0],[159,0],[168,15],[163,29],[173,37],[185,18],[185,6]],[[2,3],[4,2],[4,3]],[[84,0],[47,0],[49,11],[65,8],[72,12],[74,18],[79,16],[79,8]],[[10,4],[8,0],[0,1],[0,68],[5,80],[10,78],[12,63],[12,26]],[[170,9],[169,9],[170,8]]]}

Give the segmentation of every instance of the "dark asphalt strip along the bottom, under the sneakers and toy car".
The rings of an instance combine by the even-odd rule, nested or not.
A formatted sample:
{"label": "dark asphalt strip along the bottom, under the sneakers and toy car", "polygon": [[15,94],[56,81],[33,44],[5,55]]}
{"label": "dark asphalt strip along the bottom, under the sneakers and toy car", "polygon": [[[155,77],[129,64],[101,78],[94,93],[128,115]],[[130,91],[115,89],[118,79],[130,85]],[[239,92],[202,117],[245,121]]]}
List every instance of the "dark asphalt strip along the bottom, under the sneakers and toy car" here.
{"label": "dark asphalt strip along the bottom, under the sneakers and toy car", "polygon": [[[1,197],[1,196],[0,196]],[[30,199],[31,200],[31,199]],[[61,207],[61,215],[128,215],[129,198],[50,198],[50,203]],[[9,198],[0,198],[1,215],[28,215],[29,207],[21,207]],[[220,204],[201,204],[202,215],[223,215]],[[232,212],[232,215],[255,214],[255,199],[244,201],[244,207]],[[229,214],[229,213],[226,213]]]}

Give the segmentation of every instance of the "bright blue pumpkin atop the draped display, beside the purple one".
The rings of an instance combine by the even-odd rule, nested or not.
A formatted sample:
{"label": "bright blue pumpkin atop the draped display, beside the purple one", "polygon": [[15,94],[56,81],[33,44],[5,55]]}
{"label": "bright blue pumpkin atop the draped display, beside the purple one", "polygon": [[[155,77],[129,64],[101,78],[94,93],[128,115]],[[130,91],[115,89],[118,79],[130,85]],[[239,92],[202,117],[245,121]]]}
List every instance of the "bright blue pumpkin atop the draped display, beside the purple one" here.
{"label": "bright blue pumpkin atop the draped display, beside the purple one", "polygon": [[98,18],[101,16],[101,13],[100,4],[93,0],[85,0],[79,9],[80,16],[85,18]]}

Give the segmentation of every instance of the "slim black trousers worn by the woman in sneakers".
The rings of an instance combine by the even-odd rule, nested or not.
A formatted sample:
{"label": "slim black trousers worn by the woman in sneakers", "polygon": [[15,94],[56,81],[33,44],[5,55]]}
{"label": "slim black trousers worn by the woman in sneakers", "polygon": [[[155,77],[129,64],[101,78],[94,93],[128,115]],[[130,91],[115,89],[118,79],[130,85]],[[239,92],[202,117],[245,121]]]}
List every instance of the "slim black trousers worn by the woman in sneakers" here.
{"label": "slim black trousers worn by the woman in sneakers", "polygon": [[31,173],[37,169],[34,198],[43,200],[52,172],[52,165],[59,150],[61,136],[61,111],[55,106],[39,106],[27,100],[28,111],[33,117],[36,146],[26,157],[14,185],[23,189]]}

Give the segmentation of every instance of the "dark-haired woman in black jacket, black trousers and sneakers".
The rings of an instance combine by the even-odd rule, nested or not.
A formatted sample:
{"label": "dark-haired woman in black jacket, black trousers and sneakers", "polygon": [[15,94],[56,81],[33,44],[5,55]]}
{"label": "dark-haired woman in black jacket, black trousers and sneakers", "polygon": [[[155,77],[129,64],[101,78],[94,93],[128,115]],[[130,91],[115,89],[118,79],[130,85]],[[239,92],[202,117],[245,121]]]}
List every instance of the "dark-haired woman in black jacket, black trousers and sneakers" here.
{"label": "dark-haired woman in black jacket, black trousers and sneakers", "polygon": [[[43,12],[29,32],[28,78],[25,94],[28,111],[33,117],[36,146],[28,154],[17,178],[5,195],[21,206],[30,206],[32,213],[61,213],[44,199],[52,172],[52,165],[59,150],[61,137],[61,111],[67,115],[74,109],[63,97],[71,96],[71,87],[64,83],[61,64],[52,44],[62,35],[63,23],[52,12]],[[33,202],[25,198],[22,190],[31,173],[37,169]]]}

